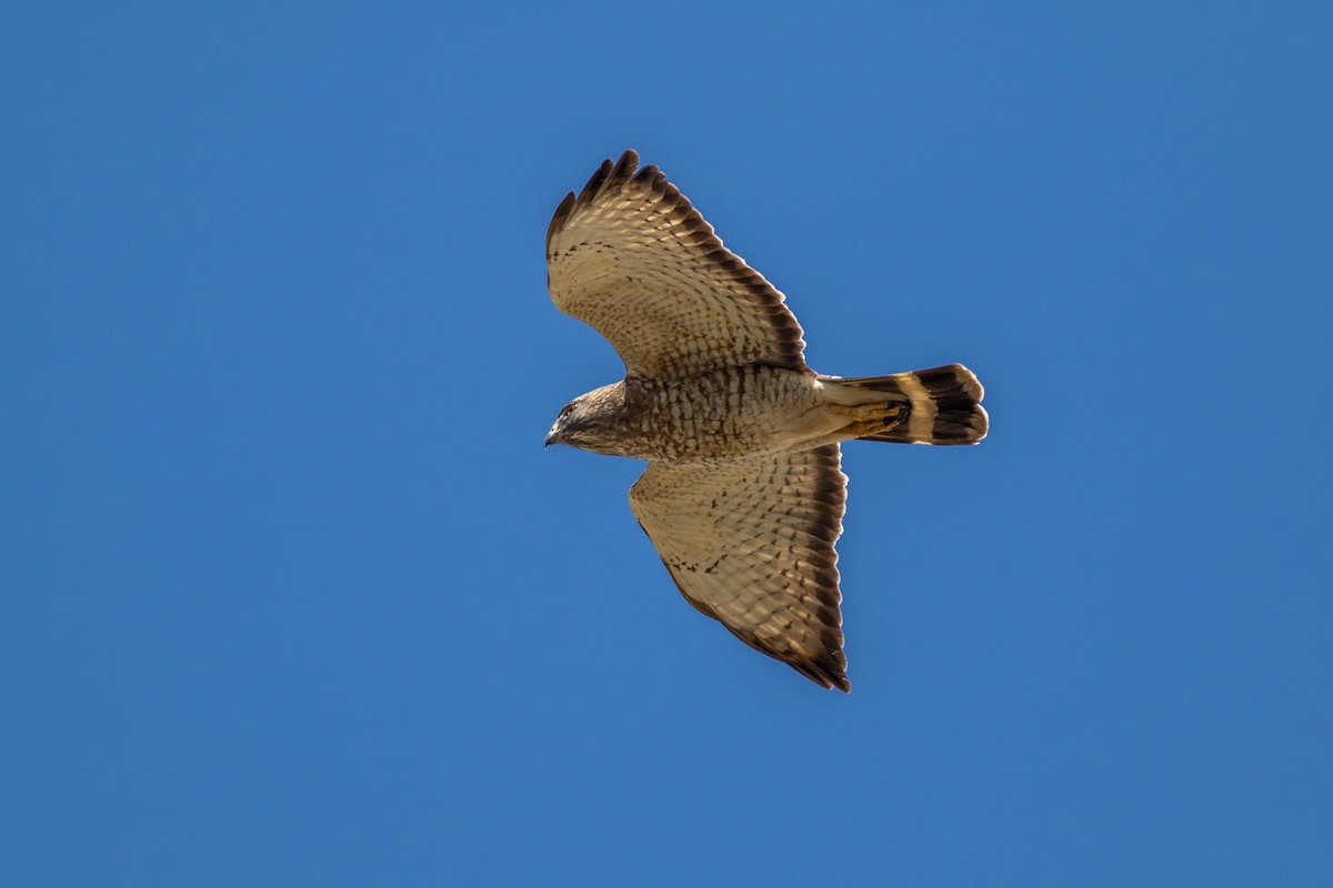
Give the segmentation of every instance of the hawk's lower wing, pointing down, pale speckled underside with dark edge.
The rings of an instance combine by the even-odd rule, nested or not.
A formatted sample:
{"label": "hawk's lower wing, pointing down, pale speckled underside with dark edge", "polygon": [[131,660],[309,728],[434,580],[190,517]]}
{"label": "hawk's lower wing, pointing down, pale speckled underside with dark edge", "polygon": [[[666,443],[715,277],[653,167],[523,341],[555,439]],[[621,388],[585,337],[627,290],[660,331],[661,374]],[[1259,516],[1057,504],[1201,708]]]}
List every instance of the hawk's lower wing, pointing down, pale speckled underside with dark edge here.
{"label": "hawk's lower wing, pointing down, pale speckled underside with dark edge", "polygon": [[717,467],[660,462],[629,506],[690,604],[824,687],[850,690],[837,554],[837,445]]}

